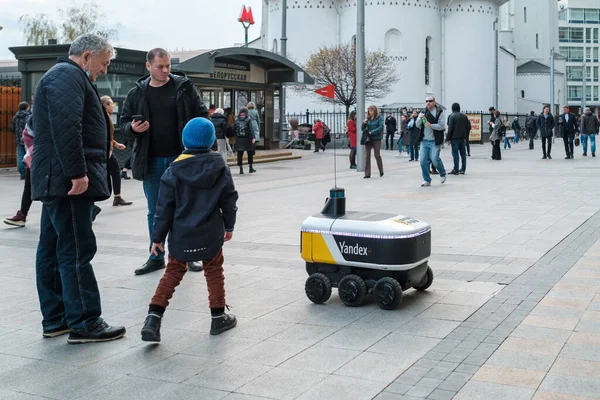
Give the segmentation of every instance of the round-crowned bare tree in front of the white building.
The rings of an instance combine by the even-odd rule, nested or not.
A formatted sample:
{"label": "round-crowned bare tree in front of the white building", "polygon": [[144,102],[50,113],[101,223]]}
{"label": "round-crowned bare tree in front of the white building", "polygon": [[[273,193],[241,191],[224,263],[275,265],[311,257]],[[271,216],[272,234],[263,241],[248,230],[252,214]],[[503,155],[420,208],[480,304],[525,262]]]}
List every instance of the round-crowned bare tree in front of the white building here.
{"label": "round-crowned bare tree in front of the white building", "polygon": [[[315,87],[334,85],[334,99],[319,96],[321,101],[341,104],[346,107],[346,115],[350,113],[350,107],[356,104],[356,50],[353,45],[322,47],[310,56],[304,70],[314,78]],[[384,52],[365,53],[366,99],[384,97],[390,86],[399,80],[393,60]]]}

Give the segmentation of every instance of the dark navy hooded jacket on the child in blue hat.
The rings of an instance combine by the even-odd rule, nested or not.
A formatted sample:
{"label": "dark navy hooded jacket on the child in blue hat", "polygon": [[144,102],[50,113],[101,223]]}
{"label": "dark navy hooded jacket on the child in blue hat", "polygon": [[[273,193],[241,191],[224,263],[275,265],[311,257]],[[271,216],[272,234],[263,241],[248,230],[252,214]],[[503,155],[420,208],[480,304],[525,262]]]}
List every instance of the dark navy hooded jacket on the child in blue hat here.
{"label": "dark navy hooded jacket on the child in blue hat", "polygon": [[232,232],[238,193],[219,153],[186,150],[160,180],[152,241],[169,234],[169,253],[181,261],[209,260]]}

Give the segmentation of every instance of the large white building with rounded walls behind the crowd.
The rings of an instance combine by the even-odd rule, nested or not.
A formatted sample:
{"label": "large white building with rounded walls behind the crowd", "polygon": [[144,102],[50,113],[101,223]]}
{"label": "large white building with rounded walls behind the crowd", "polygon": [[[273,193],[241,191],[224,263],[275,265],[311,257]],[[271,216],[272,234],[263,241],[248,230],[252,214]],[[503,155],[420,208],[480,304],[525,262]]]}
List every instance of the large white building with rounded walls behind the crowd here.
{"label": "large white building with rounded walls behind the crowd", "polygon": [[[261,36],[252,46],[280,51],[281,7],[281,0],[264,0]],[[356,25],[356,0],[287,0],[287,56],[303,64],[320,47],[351,43]],[[365,0],[365,45],[392,57],[400,76],[379,105],[422,107],[434,95],[446,107],[538,112],[551,97],[557,0]],[[555,57],[555,104],[566,98],[561,58]],[[288,91],[286,108],[326,106]]]}

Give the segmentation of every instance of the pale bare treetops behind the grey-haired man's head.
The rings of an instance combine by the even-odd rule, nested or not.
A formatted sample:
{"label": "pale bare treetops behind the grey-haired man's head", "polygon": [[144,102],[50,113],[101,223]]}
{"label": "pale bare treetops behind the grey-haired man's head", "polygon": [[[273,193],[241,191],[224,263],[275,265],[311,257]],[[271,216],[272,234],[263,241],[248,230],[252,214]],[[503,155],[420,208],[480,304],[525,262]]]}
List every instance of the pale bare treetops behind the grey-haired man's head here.
{"label": "pale bare treetops behind the grey-haired man's head", "polygon": [[[59,9],[61,21],[57,25],[45,14],[23,15],[19,19],[25,42],[28,45],[46,44],[48,39],[57,39],[60,43],[70,43],[83,33],[95,33],[106,39],[118,39],[118,28],[102,24],[106,14],[94,2]],[[59,35],[60,33],[60,35]],[[59,37],[60,36],[60,37]]]}

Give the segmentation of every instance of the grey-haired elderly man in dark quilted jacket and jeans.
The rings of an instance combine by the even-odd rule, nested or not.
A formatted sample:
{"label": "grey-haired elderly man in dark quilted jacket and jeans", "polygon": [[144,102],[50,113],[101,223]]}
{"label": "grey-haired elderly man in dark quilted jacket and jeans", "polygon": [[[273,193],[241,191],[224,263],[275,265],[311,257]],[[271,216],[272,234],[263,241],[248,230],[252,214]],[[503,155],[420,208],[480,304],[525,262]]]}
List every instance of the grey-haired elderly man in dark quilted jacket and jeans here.
{"label": "grey-haired elderly man in dark quilted jacket and jeans", "polygon": [[106,74],[113,47],[96,35],[71,43],[40,80],[33,112],[32,198],[42,200],[36,280],[44,337],[70,333],[69,343],[115,340],[124,327],[100,317],[90,261],[94,201],[110,197],[108,116],[93,82]]}

